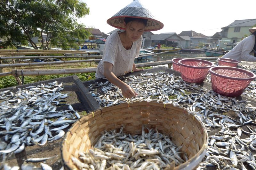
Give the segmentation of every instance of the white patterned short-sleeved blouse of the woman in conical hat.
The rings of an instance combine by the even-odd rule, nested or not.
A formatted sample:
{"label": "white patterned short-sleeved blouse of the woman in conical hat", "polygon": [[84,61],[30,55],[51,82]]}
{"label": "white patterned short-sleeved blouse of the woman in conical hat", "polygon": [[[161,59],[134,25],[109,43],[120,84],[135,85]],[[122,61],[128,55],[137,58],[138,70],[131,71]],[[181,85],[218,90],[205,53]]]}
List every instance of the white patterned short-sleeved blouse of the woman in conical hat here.
{"label": "white patterned short-sleeved blouse of the woman in conical hat", "polygon": [[104,62],[113,64],[112,72],[118,76],[123,76],[132,71],[134,59],[140,53],[142,36],[134,41],[132,48],[127,50],[122,45],[118,32],[108,36],[103,49],[103,56],[96,70],[96,78],[105,78]]}

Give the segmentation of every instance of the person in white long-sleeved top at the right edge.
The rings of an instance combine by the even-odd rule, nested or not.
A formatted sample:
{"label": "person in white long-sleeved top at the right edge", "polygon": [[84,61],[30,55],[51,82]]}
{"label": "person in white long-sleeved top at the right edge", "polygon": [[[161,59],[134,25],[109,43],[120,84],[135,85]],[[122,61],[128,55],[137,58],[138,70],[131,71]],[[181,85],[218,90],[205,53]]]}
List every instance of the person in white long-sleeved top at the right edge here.
{"label": "person in white long-sleeved top at the right edge", "polygon": [[256,27],[250,28],[252,35],[244,38],[236,47],[231,49],[222,58],[230,58],[238,61],[256,62]]}

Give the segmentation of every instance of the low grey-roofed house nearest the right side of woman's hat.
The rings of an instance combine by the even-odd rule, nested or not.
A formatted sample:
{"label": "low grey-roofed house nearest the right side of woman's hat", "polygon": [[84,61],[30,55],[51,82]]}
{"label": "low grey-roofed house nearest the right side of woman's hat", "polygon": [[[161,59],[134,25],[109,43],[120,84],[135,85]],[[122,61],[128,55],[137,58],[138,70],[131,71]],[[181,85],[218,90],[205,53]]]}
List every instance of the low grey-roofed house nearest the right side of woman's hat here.
{"label": "low grey-roofed house nearest the right side of woman's hat", "polygon": [[157,45],[158,42],[168,47],[189,47],[191,41],[188,36],[179,36],[177,33],[152,35],[152,46]]}

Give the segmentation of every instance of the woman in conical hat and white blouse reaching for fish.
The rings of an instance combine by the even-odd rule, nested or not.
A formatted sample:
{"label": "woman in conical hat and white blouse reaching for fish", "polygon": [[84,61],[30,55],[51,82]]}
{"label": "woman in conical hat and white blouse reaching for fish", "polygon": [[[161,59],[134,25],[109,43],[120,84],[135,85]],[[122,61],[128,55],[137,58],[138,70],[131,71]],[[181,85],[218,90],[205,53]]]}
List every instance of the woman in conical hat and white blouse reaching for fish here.
{"label": "woman in conical hat and white blouse reaching for fish", "polygon": [[139,0],[134,0],[117,12],[107,20],[107,23],[125,31],[115,32],[108,36],[102,60],[96,70],[96,78],[107,78],[121,89],[125,98],[136,97],[138,93],[117,77],[131,71],[143,70],[136,68],[134,64],[135,57],[139,56],[142,34],[144,31],[162,29],[164,25],[153,19],[150,12],[140,4]]}

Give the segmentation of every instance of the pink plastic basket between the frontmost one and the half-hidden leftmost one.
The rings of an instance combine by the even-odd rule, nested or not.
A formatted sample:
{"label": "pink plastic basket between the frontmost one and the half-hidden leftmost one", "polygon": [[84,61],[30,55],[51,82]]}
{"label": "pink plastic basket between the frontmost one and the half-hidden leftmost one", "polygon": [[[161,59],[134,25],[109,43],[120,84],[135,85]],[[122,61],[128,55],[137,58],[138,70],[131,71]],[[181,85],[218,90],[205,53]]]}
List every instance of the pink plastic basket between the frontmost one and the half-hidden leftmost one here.
{"label": "pink plastic basket between the frontmost one and the half-hidden leftmost one", "polygon": [[178,61],[180,64],[181,78],[190,83],[202,83],[209,69],[214,66],[210,61],[200,59],[183,59]]}

